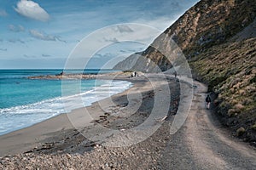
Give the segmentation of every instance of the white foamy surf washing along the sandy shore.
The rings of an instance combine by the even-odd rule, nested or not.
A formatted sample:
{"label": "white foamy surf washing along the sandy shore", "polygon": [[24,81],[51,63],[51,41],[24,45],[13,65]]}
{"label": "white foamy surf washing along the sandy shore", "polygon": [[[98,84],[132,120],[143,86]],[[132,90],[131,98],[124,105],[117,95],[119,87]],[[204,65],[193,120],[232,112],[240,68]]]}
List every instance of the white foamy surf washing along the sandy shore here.
{"label": "white foamy surf washing along the sandy shore", "polygon": [[[131,82],[106,80],[101,86],[79,94],[60,96],[29,105],[0,109],[0,135],[32,126],[35,123],[42,122],[61,113],[70,112],[73,109],[91,105],[113,94],[119,94],[131,86]],[[82,103],[79,101],[82,101]]]}

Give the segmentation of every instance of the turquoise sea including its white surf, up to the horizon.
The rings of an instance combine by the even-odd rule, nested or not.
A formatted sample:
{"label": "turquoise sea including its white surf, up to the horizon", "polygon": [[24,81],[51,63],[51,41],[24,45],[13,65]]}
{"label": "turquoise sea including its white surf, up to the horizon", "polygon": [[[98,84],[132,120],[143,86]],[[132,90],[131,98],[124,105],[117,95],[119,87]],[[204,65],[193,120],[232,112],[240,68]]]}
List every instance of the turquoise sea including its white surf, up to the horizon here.
{"label": "turquoise sea including its white surf, up to the horizon", "polygon": [[[126,81],[95,79],[61,81],[27,78],[56,75],[61,71],[0,70],[0,135],[91,105],[97,100],[108,98],[132,86],[131,82]],[[101,73],[110,71],[101,70]],[[99,70],[68,72],[97,74]],[[78,97],[82,99],[82,104],[78,103]]]}

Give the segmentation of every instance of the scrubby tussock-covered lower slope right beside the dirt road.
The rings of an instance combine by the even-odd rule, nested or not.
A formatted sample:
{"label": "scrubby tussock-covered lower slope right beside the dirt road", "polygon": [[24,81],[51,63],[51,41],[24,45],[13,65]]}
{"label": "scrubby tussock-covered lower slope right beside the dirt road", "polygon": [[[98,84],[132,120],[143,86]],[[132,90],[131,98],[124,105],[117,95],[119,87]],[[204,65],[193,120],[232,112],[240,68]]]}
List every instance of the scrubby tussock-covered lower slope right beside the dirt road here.
{"label": "scrubby tussock-covered lower slope right beside the dirt road", "polygon": [[224,124],[247,141],[255,142],[256,38],[209,48],[190,65],[195,77],[218,94],[214,102]]}

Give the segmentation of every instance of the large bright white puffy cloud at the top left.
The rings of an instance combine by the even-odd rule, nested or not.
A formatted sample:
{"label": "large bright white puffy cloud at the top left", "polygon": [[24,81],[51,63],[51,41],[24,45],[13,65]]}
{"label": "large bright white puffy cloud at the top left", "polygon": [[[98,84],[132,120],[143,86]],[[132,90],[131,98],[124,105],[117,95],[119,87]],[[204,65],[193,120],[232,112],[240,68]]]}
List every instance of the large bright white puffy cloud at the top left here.
{"label": "large bright white puffy cloud at the top left", "polygon": [[17,3],[15,11],[33,20],[49,20],[49,14],[44,10],[44,8],[40,7],[38,3],[34,3],[30,0],[20,0],[20,2]]}

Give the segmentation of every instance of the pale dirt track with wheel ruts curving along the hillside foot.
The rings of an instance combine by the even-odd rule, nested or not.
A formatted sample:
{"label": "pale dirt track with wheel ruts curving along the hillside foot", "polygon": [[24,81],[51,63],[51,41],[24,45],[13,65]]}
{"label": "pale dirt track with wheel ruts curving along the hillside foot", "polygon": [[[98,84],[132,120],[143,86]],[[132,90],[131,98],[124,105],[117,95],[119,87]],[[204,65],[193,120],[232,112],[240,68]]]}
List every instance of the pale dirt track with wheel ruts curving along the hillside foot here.
{"label": "pale dirt track with wheel ruts curving along the hillside foot", "polygon": [[161,169],[255,169],[255,148],[232,138],[206,108],[207,86],[195,80],[193,84],[189,115],[166,145]]}

